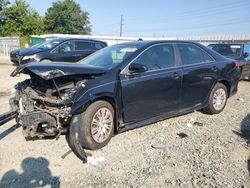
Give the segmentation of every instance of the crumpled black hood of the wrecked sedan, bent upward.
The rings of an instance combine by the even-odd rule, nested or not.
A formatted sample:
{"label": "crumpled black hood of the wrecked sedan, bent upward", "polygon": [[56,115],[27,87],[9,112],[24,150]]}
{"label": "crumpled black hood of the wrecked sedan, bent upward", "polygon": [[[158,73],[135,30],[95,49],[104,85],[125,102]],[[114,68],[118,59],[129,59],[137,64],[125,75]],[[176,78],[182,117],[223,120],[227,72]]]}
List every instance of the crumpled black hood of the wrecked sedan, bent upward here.
{"label": "crumpled black hood of the wrecked sedan, bent upward", "polygon": [[29,74],[32,72],[45,80],[50,80],[70,75],[100,75],[106,71],[107,69],[104,68],[77,63],[28,63],[17,67],[11,76],[15,77],[20,73]]}

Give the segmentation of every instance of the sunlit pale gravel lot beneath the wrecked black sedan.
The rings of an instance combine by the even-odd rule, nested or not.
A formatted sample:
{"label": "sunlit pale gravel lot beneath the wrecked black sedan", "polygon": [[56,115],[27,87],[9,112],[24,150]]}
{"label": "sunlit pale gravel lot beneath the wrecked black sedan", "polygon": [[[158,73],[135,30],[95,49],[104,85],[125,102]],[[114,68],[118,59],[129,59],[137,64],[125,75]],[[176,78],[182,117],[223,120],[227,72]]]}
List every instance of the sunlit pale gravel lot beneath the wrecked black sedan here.
{"label": "sunlit pale gravel lot beneath the wrecked black sedan", "polygon": [[[10,79],[11,70],[0,64],[0,92],[23,79]],[[105,158],[97,166],[70,153],[64,136],[25,141],[11,121],[0,127],[0,187],[250,187],[249,92],[241,81],[219,115],[193,112],[119,134],[88,151]],[[0,113],[9,97],[0,96]]]}

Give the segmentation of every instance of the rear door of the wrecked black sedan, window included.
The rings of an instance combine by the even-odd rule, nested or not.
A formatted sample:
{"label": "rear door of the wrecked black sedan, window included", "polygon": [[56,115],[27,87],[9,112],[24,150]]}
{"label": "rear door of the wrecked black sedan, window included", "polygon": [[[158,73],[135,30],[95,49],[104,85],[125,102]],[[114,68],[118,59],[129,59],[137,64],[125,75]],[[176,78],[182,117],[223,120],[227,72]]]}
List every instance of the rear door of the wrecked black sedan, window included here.
{"label": "rear door of the wrecked black sedan, window included", "polygon": [[181,108],[195,108],[204,104],[217,81],[215,60],[198,45],[176,44],[182,63]]}

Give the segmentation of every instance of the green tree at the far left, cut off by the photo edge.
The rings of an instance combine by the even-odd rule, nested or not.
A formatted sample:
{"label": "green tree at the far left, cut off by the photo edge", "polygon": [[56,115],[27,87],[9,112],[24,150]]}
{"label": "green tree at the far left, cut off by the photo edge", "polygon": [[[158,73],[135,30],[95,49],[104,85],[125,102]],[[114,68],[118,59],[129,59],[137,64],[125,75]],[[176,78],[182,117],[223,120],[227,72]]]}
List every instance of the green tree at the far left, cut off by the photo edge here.
{"label": "green tree at the far left, cut off by the photo edge", "polygon": [[0,36],[19,36],[23,45],[30,35],[43,32],[42,17],[24,0],[16,0],[14,4],[4,7],[2,13],[5,21],[0,25]]}

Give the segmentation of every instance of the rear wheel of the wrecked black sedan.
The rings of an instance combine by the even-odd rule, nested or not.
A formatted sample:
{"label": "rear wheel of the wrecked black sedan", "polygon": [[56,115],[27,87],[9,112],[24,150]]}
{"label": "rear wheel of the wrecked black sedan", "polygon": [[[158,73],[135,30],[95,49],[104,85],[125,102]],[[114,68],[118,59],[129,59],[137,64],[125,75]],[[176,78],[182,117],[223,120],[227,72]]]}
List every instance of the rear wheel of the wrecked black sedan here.
{"label": "rear wheel of the wrecked black sedan", "polygon": [[227,87],[222,83],[217,83],[208,99],[208,106],[204,111],[208,114],[219,114],[227,104],[228,91]]}

